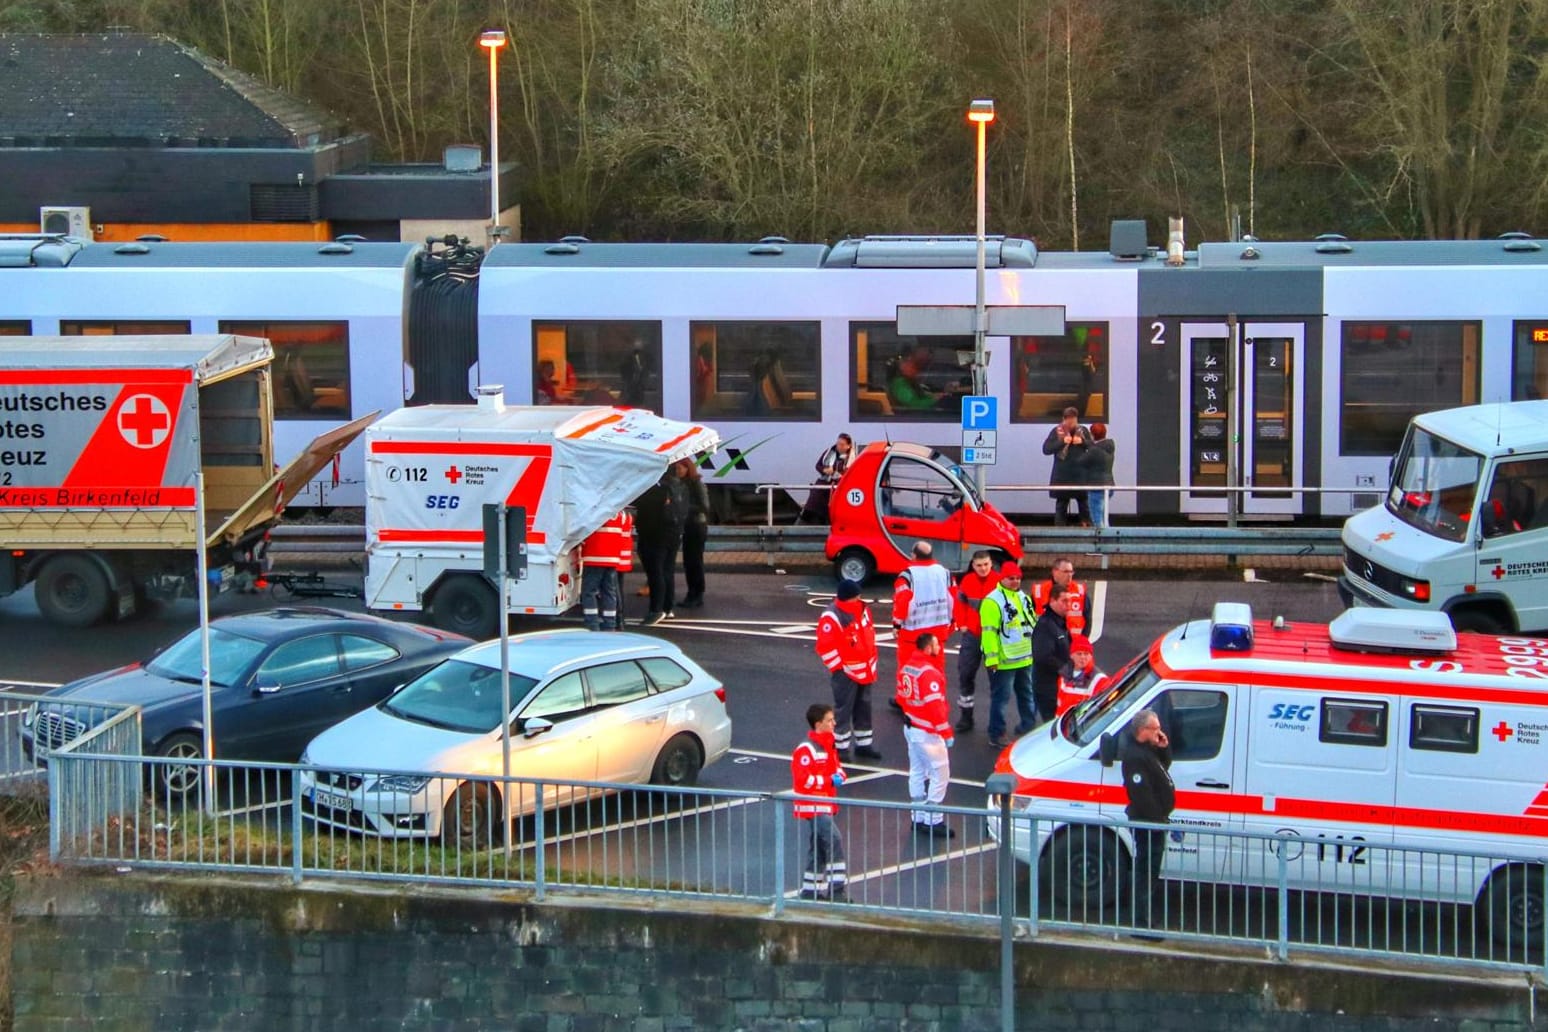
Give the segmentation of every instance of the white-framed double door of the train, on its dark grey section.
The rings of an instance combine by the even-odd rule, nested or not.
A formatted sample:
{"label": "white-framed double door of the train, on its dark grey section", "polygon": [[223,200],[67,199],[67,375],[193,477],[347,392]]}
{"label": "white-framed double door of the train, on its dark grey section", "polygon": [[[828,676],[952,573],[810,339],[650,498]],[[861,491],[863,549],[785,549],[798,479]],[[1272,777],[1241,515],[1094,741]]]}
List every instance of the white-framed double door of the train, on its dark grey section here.
{"label": "white-framed double door of the train, on its dark grey section", "polygon": [[[1302,495],[1303,323],[1184,322],[1180,475],[1186,514],[1224,514],[1228,486],[1243,515],[1296,515]],[[1211,490],[1215,487],[1217,490]]]}

